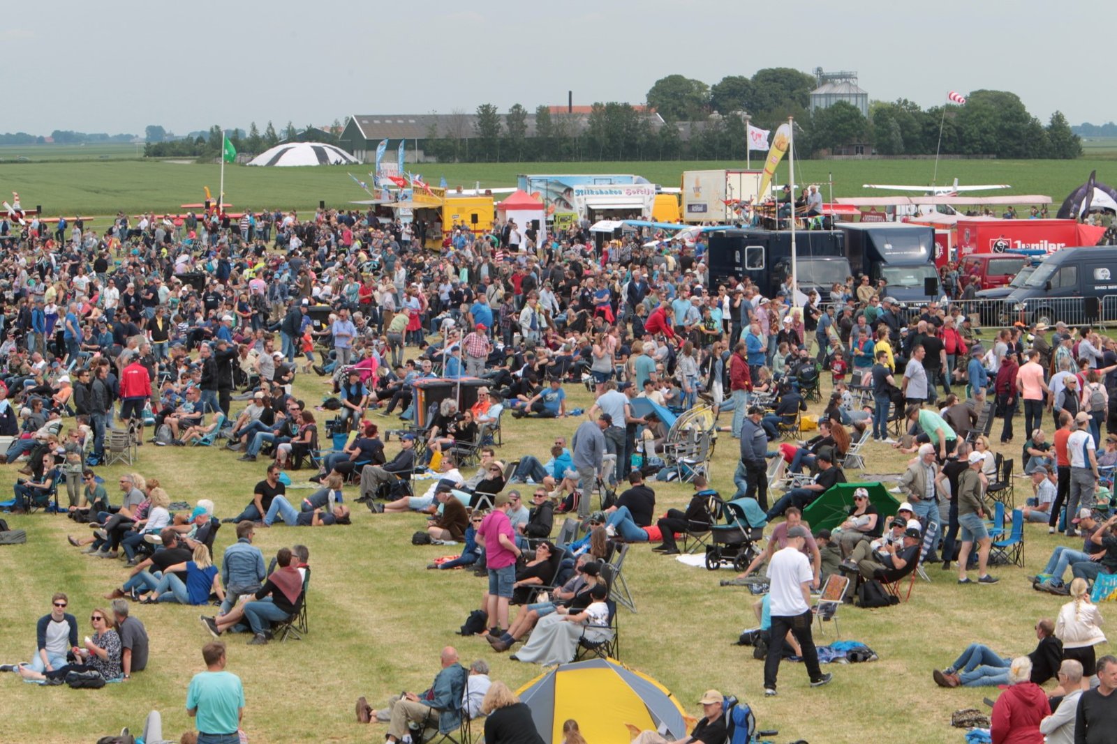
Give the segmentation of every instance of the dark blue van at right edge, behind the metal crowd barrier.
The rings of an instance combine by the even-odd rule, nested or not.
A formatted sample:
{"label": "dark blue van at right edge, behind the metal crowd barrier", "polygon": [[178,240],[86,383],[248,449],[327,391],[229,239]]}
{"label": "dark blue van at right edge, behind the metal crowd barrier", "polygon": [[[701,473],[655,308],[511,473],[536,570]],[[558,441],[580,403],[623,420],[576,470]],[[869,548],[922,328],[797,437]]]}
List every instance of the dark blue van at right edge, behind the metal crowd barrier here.
{"label": "dark blue van at right edge, behind the metal crowd barrier", "polygon": [[1005,299],[1012,316],[1048,326],[1117,319],[1117,245],[1065,248]]}

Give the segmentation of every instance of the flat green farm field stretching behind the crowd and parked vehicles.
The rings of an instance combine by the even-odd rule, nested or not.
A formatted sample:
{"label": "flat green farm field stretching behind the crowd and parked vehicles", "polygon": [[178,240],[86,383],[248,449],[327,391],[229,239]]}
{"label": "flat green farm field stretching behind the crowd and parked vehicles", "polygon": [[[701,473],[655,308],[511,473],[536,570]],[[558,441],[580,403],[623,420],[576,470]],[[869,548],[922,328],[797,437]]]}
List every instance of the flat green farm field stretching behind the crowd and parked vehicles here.
{"label": "flat green farm field stretching behind the crowd and parked vehicles", "polygon": [[[142,210],[174,211],[181,204],[203,199],[203,186],[217,193],[220,168],[216,164],[189,164],[171,161],[136,161],[124,156],[102,155],[66,162],[10,162],[9,149],[0,148],[0,192],[18,191],[25,205],[41,204],[47,216],[114,215],[118,210],[136,214]],[[84,149],[84,148],[73,148]],[[1008,183],[1015,194],[1051,196],[1052,213],[1068,193],[1086,181],[1091,170],[1106,182],[1117,180],[1117,167],[1100,149],[1097,156],[1087,151],[1077,161],[942,161],[938,184]],[[762,165],[755,160],[755,167]],[[638,163],[469,163],[408,165],[429,183],[446,177],[452,189],[513,186],[519,173],[634,173],[665,186],[678,186],[687,170],[744,167],[742,162],[638,162]],[[834,196],[885,195],[888,192],[862,189],[866,183],[930,184],[934,161],[796,161],[795,181],[820,183],[825,199]],[[370,181],[370,165],[264,168],[231,165],[226,168],[226,199],[233,211],[264,207],[313,210],[319,201],[344,209],[349,202],[367,199],[346,175]],[[786,180],[784,162],[776,182]],[[832,182],[832,192],[828,182]],[[990,192],[993,193],[993,192]],[[104,224],[101,221],[97,224]]]}

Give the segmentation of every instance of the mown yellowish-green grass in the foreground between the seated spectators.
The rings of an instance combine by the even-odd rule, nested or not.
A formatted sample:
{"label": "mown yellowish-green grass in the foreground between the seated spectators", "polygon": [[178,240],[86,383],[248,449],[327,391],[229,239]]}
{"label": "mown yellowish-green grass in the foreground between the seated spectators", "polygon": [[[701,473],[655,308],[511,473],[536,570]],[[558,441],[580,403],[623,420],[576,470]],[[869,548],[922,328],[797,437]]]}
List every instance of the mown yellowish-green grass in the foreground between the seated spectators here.
{"label": "mown yellowish-green grass in the foreground between the seated spectators", "polygon": [[[327,389],[318,378],[305,376],[299,376],[296,388],[308,404],[317,403]],[[571,405],[585,407],[591,402],[584,388],[567,392]],[[812,406],[818,408],[818,404]],[[498,456],[506,461],[527,453],[545,456],[550,437],[556,432],[569,436],[577,423],[509,419]],[[390,456],[397,447],[393,439]],[[731,480],[736,451],[736,441],[722,435],[713,484],[727,496],[734,491]],[[1019,462],[1015,447],[1003,451]],[[885,445],[870,444],[867,452],[869,473],[895,475],[905,465],[905,457]],[[108,484],[124,470],[99,468]],[[228,516],[247,503],[265,464],[262,458],[256,464],[237,462],[226,450],[149,444],[128,470],[157,477],[172,500],[212,499],[218,515]],[[2,487],[10,487],[16,466],[0,471]],[[309,474],[300,471],[292,476],[303,487]],[[859,477],[855,474],[850,480]],[[653,485],[657,511],[682,508],[688,499],[689,486]],[[1030,495],[1028,481],[1016,480],[1015,485],[1016,501],[1022,503]],[[118,494],[113,495],[118,501]],[[347,487],[345,495],[347,500],[355,497],[356,490]],[[66,534],[87,530],[65,518],[34,514],[9,521],[28,531],[28,543],[0,549],[0,573],[7,577],[7,601],[0,603],[0,624],[7,629],[0,640],[0,661],[4,663],[29,658],[35,622],[49,609],[54,591],[69,593],[70,611],[84,635],[89,628],[89,610],[107,607],[102,595],[125,577],[121,562],[88,558],[70,548]],[[311,634],[305,640],[249,647],[247,635],[227,637],[229,669],[245,683],[245,729],[254,744],[380,741],[386,727],[370,729],[357,724],[353,700],[365,695],[373,706],[380,706],[400,689],[424,689],[437,670],[439,649],[447,644],[458,648],[465,664],[478,657],[488,659],[493,678],[514,688],[540,674],[537,666],[494,654],[480,638],[455,635],[469,610],[478,606],[484,580],[461,571],[426,571],[432,558],[454,551],[412,547],[410,535],[422,525],[418,515],[371,515],[359,509],[351,526],[259,531],[257,543],[268,557],[283,545],[307,544],[314,583],[309,592]],[[220,555],[233,539],[232,526],[226,525],[218,537],[217,553]],[[638,611],[620,610],[621,659],[662,682],[691,714],[698,712],[695,702],[707,688],[738,695],[752,704],[762,727],[780,729],[776,742],[861,742],[867,731],[887,731],[894,741],[956,744],[962,732],[949,727],[951,713],[981,708],[982,697],[995,697],[997,690],[941,690],[932,682],[930,670],[953,661],[974,640],[1004,654],[1031,650],[1037,618],[1053,617],[1061,603],[1059,598],[1032,591],[1024,580],[1047,560],[1056,539],[1049,538],[1046,529],[1029,525],[1027,542],[1028,568],[995,569],[993,573],[1001,578],[996,586],[957,587],[954,572],[929,567],[932,583],[917,582],[908,603],[878,610],[842,608],[842,638],[868,644],[880,660],[832,667],[829,670],[834,673],[834,682],[822,689],[808,687],[801,665],[785,663],[780,696],[772,699],[763,697],[762,663],[753,660],[750,648],[732,646],[743,628],[755,625],[752,596],[743,588],[718,586],[718,580],[732,572],[687,568],[637,547],[624,572]],[[208,612],[212,608],[202,609]],[[48,731],[46,738],[59,744],[89,742],[124,725],[134,731],[153,707],[164,715],[165,735],[176,737],[189,728],[183,711],[185,687],[202,668],[200,648],[210,639],[198,622],[199,608],[164,605],[133,610],[152,638],[146,671],[99,692],[40,688],[0,675],[6,700],[0,742],[42,741]],[[828,625],[821,634],[817,630],[817,637],[819,642],[833,640],[833,627]],[[1101,653],[1107,649],[1102,647]],[[45,721],[49,721],[46,726]],[[620,741],[627,738],[621,736]]]}

